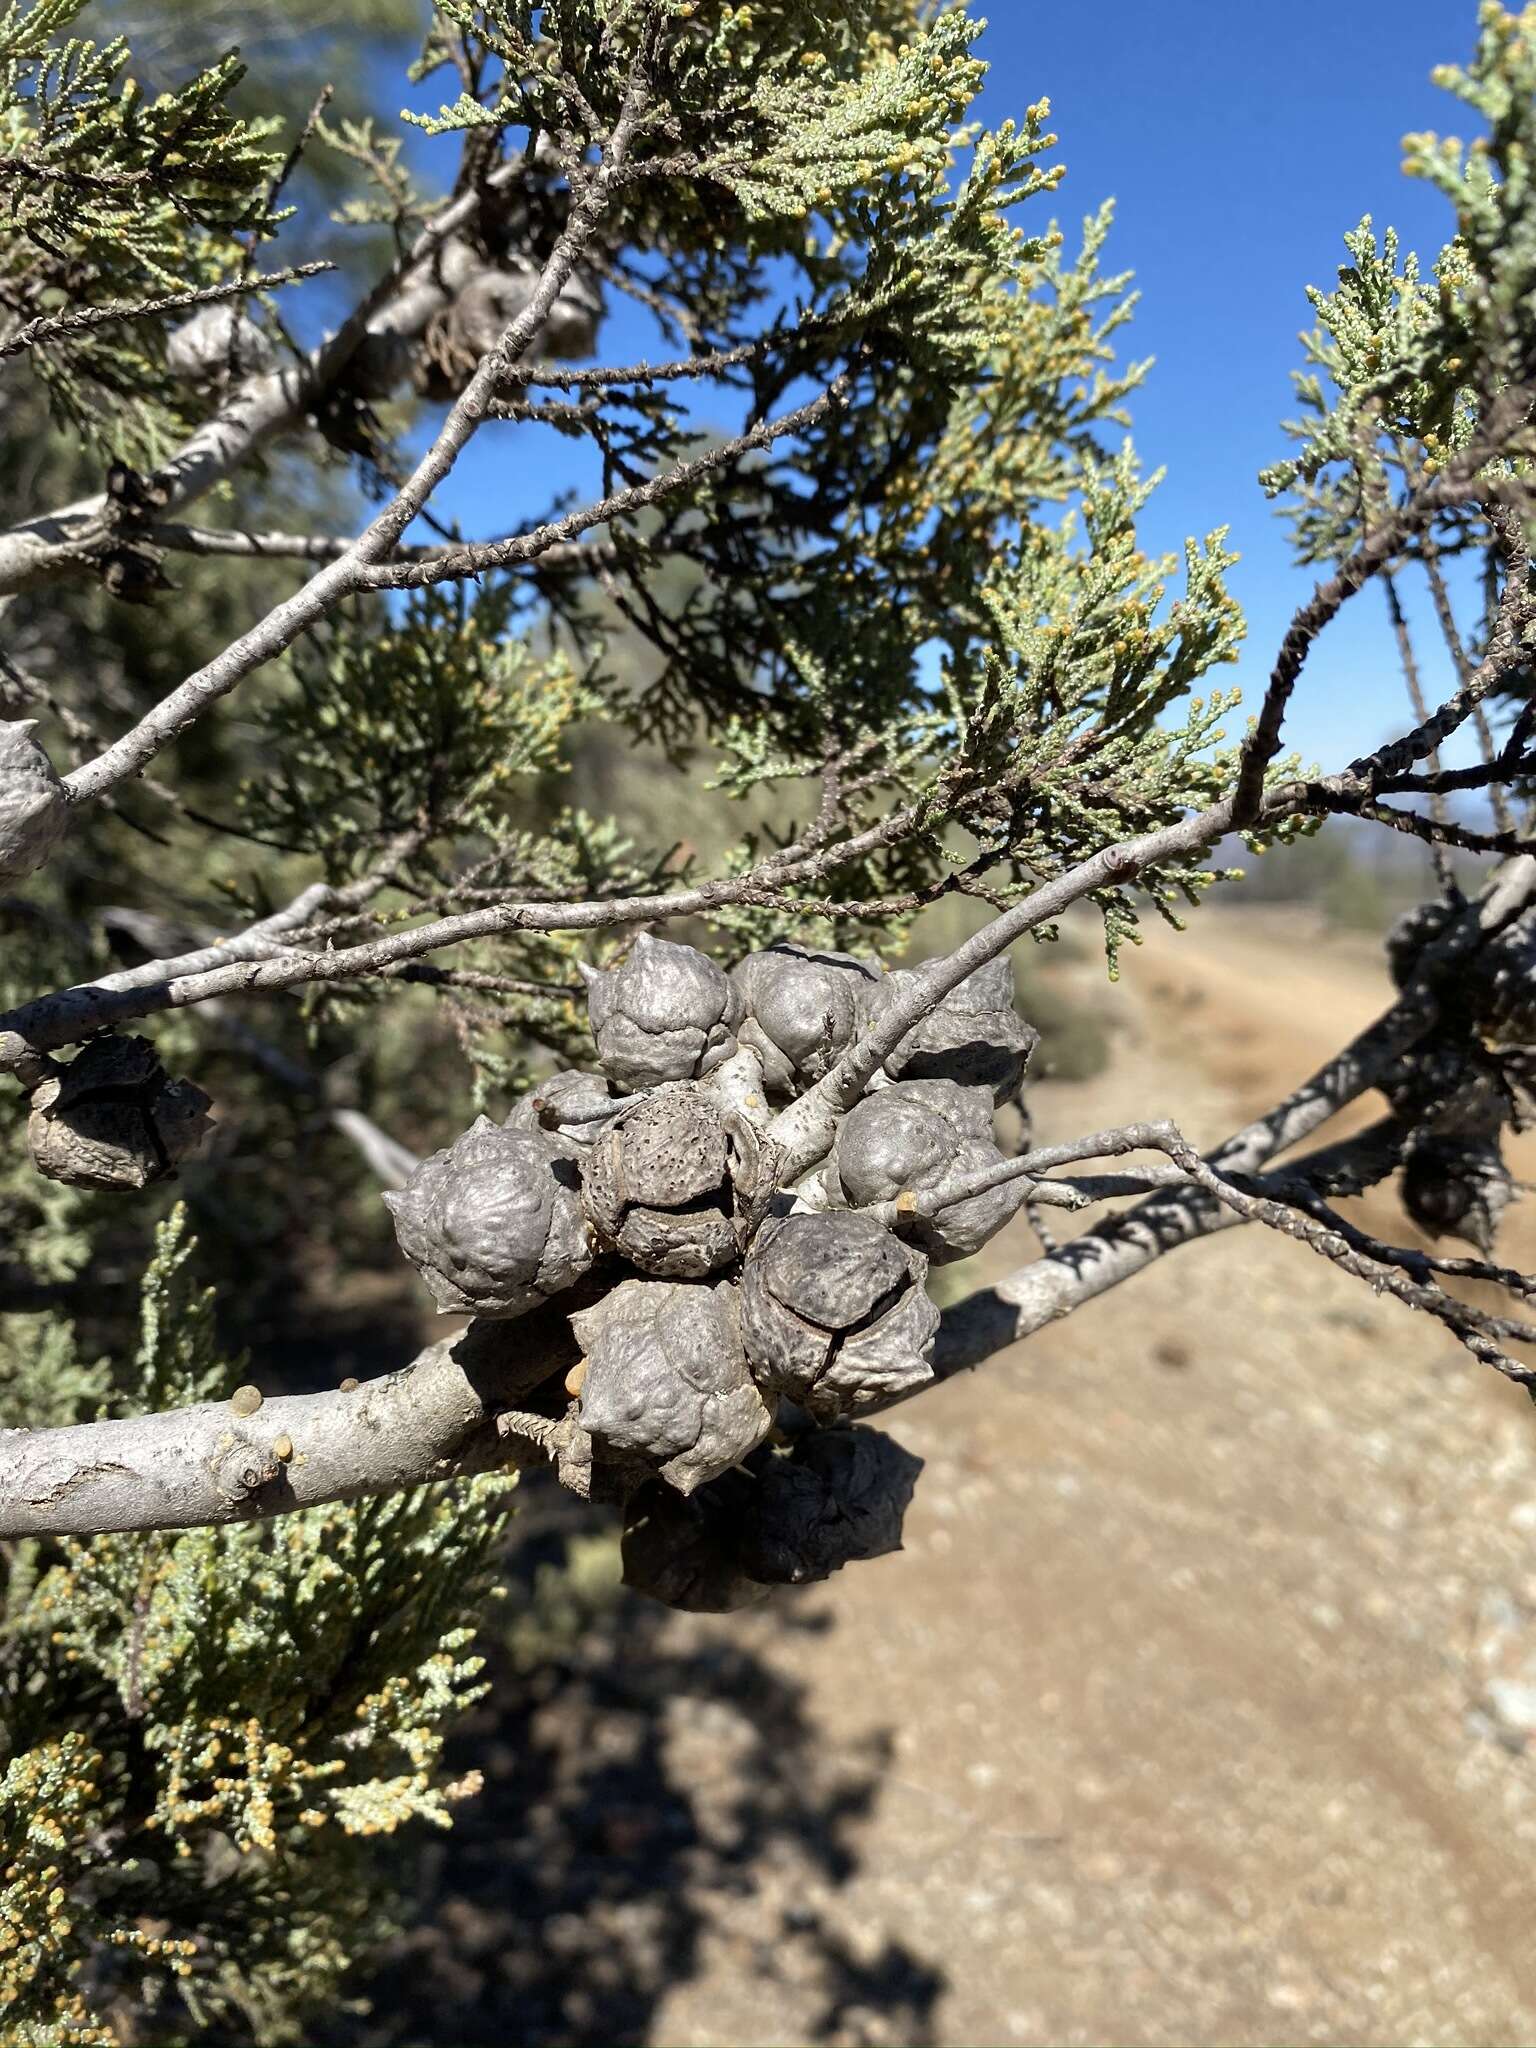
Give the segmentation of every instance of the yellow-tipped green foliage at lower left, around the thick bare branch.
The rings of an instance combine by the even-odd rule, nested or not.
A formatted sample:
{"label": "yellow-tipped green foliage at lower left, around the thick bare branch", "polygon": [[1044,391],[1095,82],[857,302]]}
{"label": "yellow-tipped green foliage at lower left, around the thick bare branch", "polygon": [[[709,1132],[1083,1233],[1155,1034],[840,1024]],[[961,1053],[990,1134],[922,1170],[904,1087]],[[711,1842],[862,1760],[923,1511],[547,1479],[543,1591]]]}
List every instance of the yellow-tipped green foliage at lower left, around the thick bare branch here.
{"label": "yellow-tipped green foliage at lower left, around the thick bare branch", "polygon": [[[236,1376],[190,1251],[176,1214],[145,1274],[135,1407]],[[76,1380],[92,1407],[100,1378]],[[381,1929],[365,1839],[446,1825],[473,1790],[446,1780],[442,1741],[481,1690],[469,1645],[508,1487],[57,1556],[14,1546],[0,1628],[14,2038],[111,2040],[82,1982],[92,2009],[117,1987],[166,2028],[240,2019],[266,2042],[334,1997]]]}

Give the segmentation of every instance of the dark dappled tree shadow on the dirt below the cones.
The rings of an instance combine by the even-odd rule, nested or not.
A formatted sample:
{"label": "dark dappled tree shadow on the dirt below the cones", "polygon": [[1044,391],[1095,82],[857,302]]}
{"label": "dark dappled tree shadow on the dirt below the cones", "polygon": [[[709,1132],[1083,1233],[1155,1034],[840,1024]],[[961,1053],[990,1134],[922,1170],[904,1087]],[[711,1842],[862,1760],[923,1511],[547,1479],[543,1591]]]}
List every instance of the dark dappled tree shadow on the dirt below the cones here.
{"label": "dark dappled tree shadow on the dirt below the cones", "polygon": [[[858,1870],[889,1733],[829,1757],[805,1690],[729,1620],[612,1589],[584,1606],[573,1565],[612,1520],[526,1499],[514,1626],[451,1755],[483,1790],[418,1849],[406,1927],[352,1987],[367,2015],[315,2048],[643,2044],[705,1966],[774,2038],[793,2013],[797,2040],[930,2044],[942,1972],[893,1937],[856,1954],[825,1911]],[[518,1636],[520,1604],[543,1640]],[[782,1626],[829,1624],[788,1602]]]}

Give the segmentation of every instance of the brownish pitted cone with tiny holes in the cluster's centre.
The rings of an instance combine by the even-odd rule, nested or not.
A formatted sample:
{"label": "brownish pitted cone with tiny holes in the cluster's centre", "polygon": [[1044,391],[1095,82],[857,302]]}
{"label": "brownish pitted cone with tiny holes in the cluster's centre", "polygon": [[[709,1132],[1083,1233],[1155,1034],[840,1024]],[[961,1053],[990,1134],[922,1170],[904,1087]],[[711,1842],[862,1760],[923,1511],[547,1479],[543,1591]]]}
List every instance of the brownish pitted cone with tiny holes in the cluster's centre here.
{"label": "brownish pitted cone with tiny holes in the cluster's centre", "polygon": [[741,1253],[737,1188],[756,1147],[711,1087],[662,1087],[588,1153],[586,1212],[600,1241],[662,1280],[702,1280]]}

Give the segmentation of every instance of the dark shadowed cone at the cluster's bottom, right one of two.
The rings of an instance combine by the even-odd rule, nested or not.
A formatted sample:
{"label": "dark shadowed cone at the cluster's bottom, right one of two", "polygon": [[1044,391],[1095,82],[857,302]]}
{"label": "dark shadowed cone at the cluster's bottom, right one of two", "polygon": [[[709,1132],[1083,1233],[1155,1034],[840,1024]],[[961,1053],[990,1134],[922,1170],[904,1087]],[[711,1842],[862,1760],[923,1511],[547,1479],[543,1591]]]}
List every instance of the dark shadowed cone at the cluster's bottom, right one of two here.
{"label": "dark shadowed cone at the cluster's bottom, right one of two", "polygon": [[762,1585],[811,1585],[844,1565],[901,1548],[922,1473],[881,1430],[844,1423],[811,1430],[788,1452],[764,1458],[741,1501],[735,1556]]}

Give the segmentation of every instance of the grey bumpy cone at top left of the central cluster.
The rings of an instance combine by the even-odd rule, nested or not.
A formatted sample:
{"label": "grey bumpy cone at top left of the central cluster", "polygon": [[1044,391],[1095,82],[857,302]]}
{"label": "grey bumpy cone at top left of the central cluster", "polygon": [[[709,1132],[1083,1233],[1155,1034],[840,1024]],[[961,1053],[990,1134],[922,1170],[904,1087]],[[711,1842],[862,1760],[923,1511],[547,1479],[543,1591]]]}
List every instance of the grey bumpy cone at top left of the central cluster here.
{"label": "grey bumpy cone at top left of the central cluster", "polygon": [[741,997],[692,946],[643,932],[618,967],[584,973],[592,1038],[618,1090],[694,1081],[735,1053]]}

